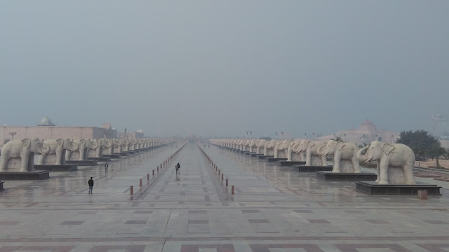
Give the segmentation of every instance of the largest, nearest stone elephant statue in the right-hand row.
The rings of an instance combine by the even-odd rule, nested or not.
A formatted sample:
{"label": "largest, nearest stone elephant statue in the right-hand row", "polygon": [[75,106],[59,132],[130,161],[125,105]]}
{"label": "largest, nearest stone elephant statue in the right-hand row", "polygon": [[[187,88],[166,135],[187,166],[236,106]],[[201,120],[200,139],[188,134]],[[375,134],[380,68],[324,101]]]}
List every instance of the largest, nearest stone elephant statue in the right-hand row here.
{"label": "largest, nearest stone elephant statue in the right-hand row", "polygon": [[415,184],[413,176],[415,153],[405,144],[372,141],[370,145],[358,150],[356,156],[361,162],[377,162],[376,182],[380,185]]}

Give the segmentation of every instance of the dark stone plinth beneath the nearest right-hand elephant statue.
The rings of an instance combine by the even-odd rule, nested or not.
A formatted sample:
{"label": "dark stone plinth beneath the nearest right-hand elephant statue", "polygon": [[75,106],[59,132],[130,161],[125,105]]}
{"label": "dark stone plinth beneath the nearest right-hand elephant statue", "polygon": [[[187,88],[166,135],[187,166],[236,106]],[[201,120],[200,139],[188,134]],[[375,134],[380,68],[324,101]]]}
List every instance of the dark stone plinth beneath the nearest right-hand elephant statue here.
{"label": "dark stone plinth beneath the nearest right-hand elephant statue", "polygon": [[441,186],[417,182],[415,185],[379,185],[371,181],[356,182],[356,190],[368,195],[418,195],[418,190],[427,190],[427,195],[441,195]]}

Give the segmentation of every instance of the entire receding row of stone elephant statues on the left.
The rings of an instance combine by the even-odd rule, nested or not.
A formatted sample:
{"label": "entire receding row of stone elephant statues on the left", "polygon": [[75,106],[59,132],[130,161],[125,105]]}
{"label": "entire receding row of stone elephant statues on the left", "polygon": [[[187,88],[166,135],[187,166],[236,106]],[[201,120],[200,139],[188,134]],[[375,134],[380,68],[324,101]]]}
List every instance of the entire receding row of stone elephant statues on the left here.
{"label": "entire receding row of stone elephant statues on the left", "polygon": [[1,148],[0,172],[19,169],[34,172],[34,155],[39,154],[37,165],[66,165],[66,160],[84,161],[140,151],[168,144],[168,139],[22,139],[8,141]]}

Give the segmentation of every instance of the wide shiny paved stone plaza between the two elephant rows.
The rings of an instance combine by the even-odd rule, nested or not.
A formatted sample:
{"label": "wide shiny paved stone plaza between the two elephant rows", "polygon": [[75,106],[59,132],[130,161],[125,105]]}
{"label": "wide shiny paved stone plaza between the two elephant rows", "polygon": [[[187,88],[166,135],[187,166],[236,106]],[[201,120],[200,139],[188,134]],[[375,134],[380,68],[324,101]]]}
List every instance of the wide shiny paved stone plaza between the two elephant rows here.
{"label": "wide shiny paved stone plaza between the two elephant rows", "polygon": [[373,197],[356,193],[354,182],[317,181],[314,173],[206,147],[227,188],[196,144],[153,179],[175,151],[109,162],[107,173],[100,163],[51,172],[46,181],[6,181],[0,252],[449,251],[449,182],[440,181],[443,196],[429,200]]}

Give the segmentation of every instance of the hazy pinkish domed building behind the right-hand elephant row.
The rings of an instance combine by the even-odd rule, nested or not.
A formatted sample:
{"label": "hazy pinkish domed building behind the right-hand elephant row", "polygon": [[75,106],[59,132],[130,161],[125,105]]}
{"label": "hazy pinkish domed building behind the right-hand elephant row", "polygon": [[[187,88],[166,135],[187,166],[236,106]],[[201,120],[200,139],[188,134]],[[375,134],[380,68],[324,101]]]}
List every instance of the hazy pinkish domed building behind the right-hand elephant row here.
{"label": "hazy pinkish domed building behind the right-hand elephant row", "polygon": [[358,129],[340,130],[333,135],[317,137],[319,140],[330,140],[340,137],[343,141],[351,141],[358,145],[370,144],[371,141],[384,141],[394,143],[399,138],[398,132],[379,130],[370,120],[365,120]]}

